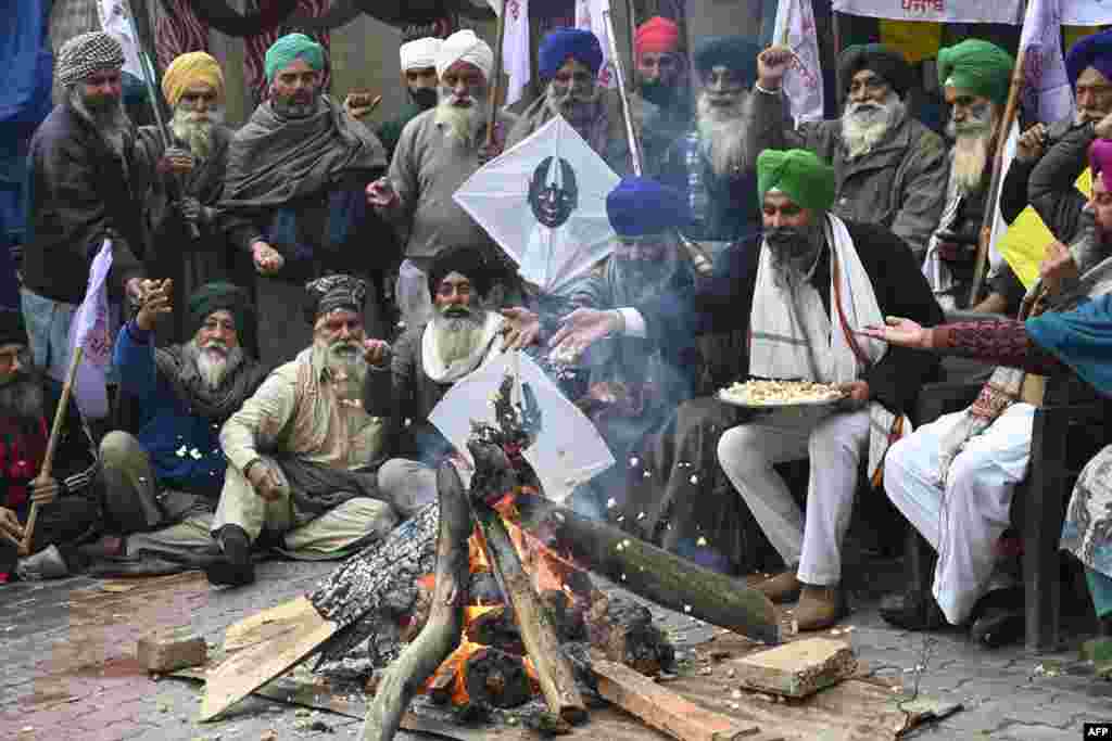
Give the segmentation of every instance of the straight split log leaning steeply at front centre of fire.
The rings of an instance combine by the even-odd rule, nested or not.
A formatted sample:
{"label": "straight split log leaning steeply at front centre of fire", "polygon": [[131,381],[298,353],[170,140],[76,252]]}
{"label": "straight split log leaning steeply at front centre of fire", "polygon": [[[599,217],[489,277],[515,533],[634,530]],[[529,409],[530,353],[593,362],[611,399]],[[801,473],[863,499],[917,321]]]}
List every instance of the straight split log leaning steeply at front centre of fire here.
{"label": "straight split log leaning steeply at front centre of fire", "polygon": [[525,652],[537,671],[548,709],[568,723],[585,721],[587,707],[576,687],[572,667],[559,649],[556,627],[533,589],[533,580],[517,557],[502,517],[481,501],[475,501],[473,509],[483,532],[487,560],[494,565],[514,609]]}

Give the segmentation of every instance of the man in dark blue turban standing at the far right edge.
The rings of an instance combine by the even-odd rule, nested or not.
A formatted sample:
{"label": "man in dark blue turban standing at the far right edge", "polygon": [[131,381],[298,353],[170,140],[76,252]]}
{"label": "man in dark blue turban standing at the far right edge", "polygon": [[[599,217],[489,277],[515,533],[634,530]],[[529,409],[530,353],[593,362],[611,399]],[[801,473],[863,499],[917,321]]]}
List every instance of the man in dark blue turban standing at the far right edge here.
{"label": "man in dark blue turban standing at the far right edge", "polygon": [[1065,56],[1073,86],[1072,118],[1035,123],[1020,137],[1001,190],[1001,211],[1014,219],[1027,206],[1060,242],[1072,242],[1092,220],[1074,183],[1088,167],[1094,139],[1112,138],[1112,31],[1078,41]]}

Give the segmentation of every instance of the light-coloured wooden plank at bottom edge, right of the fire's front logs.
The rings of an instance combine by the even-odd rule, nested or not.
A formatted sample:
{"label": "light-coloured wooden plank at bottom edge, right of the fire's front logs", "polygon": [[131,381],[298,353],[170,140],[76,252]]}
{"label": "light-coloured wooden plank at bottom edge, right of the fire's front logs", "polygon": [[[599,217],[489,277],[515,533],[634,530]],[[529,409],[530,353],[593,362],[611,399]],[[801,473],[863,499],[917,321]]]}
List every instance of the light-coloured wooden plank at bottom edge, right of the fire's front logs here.
{"label": "light-coloured wooden plank at bottom edge, right of the fire's front logs", "polygon": [[759,732],[756,725],[704,710],[623,664],[593,660],[592,670],[605,700],[681,741],[735,741]]}

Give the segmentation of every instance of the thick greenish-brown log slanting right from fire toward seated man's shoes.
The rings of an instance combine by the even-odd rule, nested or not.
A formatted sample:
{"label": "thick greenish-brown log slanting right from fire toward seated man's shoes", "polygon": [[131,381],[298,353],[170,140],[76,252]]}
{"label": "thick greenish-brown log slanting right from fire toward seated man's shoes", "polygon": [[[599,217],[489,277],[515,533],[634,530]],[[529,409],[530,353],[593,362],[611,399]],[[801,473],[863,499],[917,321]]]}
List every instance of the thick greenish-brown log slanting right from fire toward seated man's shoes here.
{"label": "thick greenish-brown log slanting right from fire toward seated man's shoes", "polygon": [[552,545],[631,592],[770,645],[781,642],[776,607],[741,581],[539,497],[518,497],[517,509],[527,530],[550,532]]}

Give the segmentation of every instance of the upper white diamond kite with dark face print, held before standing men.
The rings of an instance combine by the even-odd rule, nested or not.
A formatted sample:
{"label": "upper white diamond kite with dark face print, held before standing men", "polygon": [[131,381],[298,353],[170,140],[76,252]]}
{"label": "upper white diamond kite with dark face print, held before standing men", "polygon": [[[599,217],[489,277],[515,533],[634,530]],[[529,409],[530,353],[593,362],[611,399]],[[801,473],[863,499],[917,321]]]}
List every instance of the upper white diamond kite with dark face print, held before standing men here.
{"label": "upper white diamond kite with dark face print, held before standing men", "polygon": [[557,116],[468,178],[454,198],[525,280],[555,292],[614,250],[606,196],[618,180]]}

